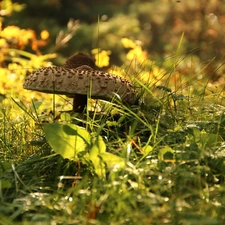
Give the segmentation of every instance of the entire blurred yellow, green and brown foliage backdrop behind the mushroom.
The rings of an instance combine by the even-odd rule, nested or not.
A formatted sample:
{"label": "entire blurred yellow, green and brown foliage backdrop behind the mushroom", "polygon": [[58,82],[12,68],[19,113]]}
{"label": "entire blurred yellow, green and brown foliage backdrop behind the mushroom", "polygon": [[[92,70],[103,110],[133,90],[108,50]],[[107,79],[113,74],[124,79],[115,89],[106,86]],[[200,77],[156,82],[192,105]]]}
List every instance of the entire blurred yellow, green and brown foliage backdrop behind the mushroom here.
{"label": "entire blurred yellow, green and brown foliage backdrop behind the mushroom", "polygon": [[[180,92],[186,89],[189,94],[210,94],[215,89],[223,93],[222,1],[104,4],[101,0],[3,0],[1,7],[3,97],[9,94],[17,99],[20,95],[26,102],[30,93],[33,99],[46,96],[23,90],[27,72],[50,66],[50,60],[62,65],[68,56],[80,51],[91,53],[98,67],[110,68],[136,87],[142,82],[147,87],[169,86]],[[202,81],[207,85],[200,84]],[[154,90],[158,92],[162,91]],[[146,96],[152,96],[150,90]]]}

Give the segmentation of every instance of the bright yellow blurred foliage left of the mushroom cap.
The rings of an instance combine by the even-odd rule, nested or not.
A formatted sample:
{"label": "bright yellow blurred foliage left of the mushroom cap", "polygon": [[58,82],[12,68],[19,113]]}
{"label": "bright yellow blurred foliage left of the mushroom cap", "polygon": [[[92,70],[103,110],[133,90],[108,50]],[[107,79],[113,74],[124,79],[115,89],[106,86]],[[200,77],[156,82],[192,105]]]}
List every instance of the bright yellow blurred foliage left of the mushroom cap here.
{"label": "bright yellow blurred foliage left of the mushroom cap", "polygon": [[[1,25],[1,22],[0,22]],[[44,94],[30,92],[23,89],[24,78],[33,69],[50,66],[50,59],[56,54],[41,55],[39,51],[40,43],[46,44],[49,33],[43,30],[41,39],[37,40],[34,30],[21,29],[17,26],[0,26],[0,94],[1,102],[5,106],[10,106],[13,98],[16,101],[21,99],[28,103],[31,99],[44,98]],[[34,54],[24,49],[31,48]],[[4,100],[4,101],[3,101]],[[12,116],[12,115],[11,115]],[[15,113],[13,116],[17,116]]]}

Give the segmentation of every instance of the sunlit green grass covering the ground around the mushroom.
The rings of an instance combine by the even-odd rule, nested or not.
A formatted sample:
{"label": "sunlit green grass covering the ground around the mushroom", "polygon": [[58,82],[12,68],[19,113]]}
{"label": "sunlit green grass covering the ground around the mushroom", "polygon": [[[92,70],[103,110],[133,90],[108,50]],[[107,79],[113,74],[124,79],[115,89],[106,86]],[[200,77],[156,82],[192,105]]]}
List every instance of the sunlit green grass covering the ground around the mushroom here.
{"label": "sunlit green grass covering the ground around the mushroom", "polygon": [[[56,124],[90,135],[77,161],[52,149],[48,104],[0,103],[0,224],[224,224],[223,90],[197,76],[171,71],[158,88],[142,84],[138,106],[100,102],[94,116],[62,114]],[[102,146],[111,155],[100,158],[101,177],[102,161],[87,154]]]}

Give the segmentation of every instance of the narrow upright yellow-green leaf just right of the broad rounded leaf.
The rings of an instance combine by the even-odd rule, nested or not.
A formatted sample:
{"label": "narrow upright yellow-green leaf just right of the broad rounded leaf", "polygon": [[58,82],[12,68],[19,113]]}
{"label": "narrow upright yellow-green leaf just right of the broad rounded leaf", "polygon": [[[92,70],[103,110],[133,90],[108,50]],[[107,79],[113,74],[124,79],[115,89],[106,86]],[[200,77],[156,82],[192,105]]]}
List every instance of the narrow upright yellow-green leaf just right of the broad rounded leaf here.
{"label": "narrow upright yellow-green leaf just right of the broad rounded leaf", "polygon": [[91,160],[95,173],[100,177],[100,178],[105,178],[105,164],[102,162],[101,158],[99,158],[99,155],[101,153],[104,153],[106,151],[106,146],[105,142],[103,141],[101,136],[98,136],[90,150],[89,153],[89,159]]}

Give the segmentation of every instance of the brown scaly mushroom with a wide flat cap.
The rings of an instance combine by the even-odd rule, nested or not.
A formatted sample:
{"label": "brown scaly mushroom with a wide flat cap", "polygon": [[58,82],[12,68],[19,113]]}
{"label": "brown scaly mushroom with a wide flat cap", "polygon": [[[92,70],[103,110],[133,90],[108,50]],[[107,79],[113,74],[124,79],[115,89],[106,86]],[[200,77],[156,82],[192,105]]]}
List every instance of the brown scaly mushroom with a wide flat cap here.
{"label": "brown scaly mushroom with a wide flat cap", "polygon": [[114,93],[123,102],[134,104],[136,92],[130,82],[117,75],[95,70],[94,61],[83,53],[70,57],[64,66],[44,67],[28,75],[23,87],[74,98],[73,111],[83,111],[87,96],[110,100]]}

